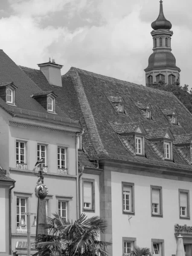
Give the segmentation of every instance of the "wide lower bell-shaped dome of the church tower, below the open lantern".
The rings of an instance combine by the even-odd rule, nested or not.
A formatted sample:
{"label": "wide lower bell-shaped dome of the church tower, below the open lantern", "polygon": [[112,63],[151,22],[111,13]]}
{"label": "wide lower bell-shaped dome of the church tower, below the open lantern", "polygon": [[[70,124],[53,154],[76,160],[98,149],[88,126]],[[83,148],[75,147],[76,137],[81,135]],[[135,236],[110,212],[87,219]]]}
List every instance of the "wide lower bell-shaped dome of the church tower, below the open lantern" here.
{"label": "wide lower bell-shaped dome of the church tower, below the open lantern", "polygon": [[175,57],[172,52],[153,52],[148,58],[148,67],[145,71],[158,68],[179,69],[175,63]]}

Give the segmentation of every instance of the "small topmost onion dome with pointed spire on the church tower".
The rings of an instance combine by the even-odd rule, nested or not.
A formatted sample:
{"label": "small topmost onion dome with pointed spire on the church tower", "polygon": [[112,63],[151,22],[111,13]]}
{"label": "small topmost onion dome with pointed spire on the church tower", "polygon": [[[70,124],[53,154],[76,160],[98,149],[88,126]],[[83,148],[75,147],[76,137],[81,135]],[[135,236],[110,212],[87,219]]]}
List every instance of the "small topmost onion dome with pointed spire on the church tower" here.
{"label": "small topmost onion dome with pointed spire on the church tower", "polygon": [[160,12],[157,20],[151,23],[151,27],[154,30],[157,29],[171,29],[172,23],[169,20],[166,20],[163,14],[163,1],[160,0]]}

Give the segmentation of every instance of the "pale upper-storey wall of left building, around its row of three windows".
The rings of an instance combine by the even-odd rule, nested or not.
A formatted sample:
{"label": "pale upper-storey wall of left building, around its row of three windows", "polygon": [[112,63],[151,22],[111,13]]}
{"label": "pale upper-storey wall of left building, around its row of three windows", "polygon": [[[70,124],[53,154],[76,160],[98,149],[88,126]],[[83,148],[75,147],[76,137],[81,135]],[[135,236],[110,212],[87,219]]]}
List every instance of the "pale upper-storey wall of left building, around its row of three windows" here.
{"label": "pale upper-storey wall of left building, around its row of three windows", "polygon": [[49,131],[38,131],[30,128],[9,126],[9,167],[16,168],[16,140],[27,142],[27,166],[32,170],[37,162],[37,144],[47,145],[48,172],[57,173],[57,147],[67,148],[67,167],[70,175],[76,175],[75,135]]}

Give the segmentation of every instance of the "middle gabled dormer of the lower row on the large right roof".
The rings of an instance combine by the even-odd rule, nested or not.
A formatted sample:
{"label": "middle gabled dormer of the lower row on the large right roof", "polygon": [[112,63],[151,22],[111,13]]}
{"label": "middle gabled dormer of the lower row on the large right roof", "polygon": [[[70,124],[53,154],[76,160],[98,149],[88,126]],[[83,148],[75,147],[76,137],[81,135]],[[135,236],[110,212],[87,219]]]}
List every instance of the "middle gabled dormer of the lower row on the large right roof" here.
{"label": "middle gabled dormer of the lower row on the large right roof", "polygon": [[[172,142],[174,137],[169,128],[157,128],[151,131],[148,131],[148,140],[151,143],[156,144],[157,149],[164,154],[165,160],[172,160]],[[152,148],[155,150],[155,147]]]}

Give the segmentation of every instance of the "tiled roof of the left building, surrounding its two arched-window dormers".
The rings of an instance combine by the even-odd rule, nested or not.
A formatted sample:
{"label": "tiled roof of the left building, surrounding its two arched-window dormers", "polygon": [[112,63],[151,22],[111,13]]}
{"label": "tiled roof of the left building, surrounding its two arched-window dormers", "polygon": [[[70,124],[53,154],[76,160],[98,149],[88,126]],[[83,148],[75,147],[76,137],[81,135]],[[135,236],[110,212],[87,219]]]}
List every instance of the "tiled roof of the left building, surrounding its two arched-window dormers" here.
{"label": "tiled roof of the left building, surrounding its two arched-window dormers", "polygon": [[[19,117],[26,118],[30,116],[30,118],[41,119],[45,122],[50,122],[50,119],[51,122],[55,122],[57,124],[67,122],[68,124],[71,123],[73,125],[79,126],[78,120],[75,120],[76,118],[68,116],[67,113],[63,111],[63,108],[61,109],[60,104],[57,104],[56,106],[56,113],[58,114],[56,117],[55,114],[47,113],[47,111],[41,106],[41,104],[39,104],[35,99],[31,97],[32,94],[42,93],[42,91],[49,90],[53,90],[55,94],[57,94],[58,92],[59,95],[59,91],[57,90],[56,92],[55,88],[48,83],[44,85],[44,88],[42,88],[42,86],[39,86],[36,81],[33,81],[30,78],[30,71],[27,73],[26,70],[29,71],[31,69],[25,69],[17,66],[15,62],[12,61],[12,59],[9,58],[9,56],[6,55],[5,52],[3,52],[3,50],[0,50],[0,83],[6,85],[13,82],[13,84],[17,87],[17,89],[15,90],[16,106],[8,105],[0,97],[0,107],[7,111],[9,114]],[[42,75],[43,74],[41,73],[41,77]],[[44,80],[45,77],[44,79],[41,79],[41,81]],[[58,102],[62,101],[62,95],[60,96],[60,98],[61,99]]]}

